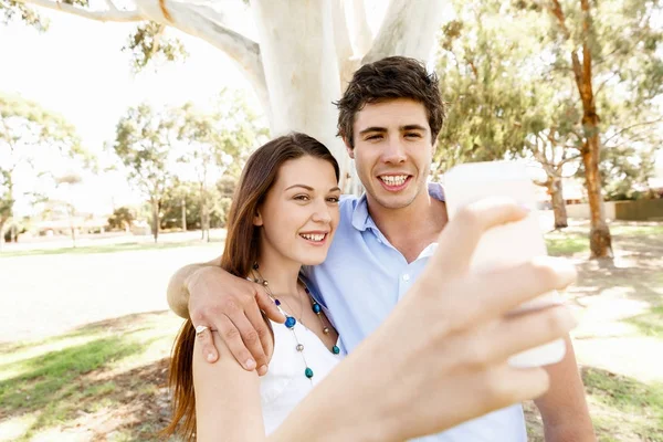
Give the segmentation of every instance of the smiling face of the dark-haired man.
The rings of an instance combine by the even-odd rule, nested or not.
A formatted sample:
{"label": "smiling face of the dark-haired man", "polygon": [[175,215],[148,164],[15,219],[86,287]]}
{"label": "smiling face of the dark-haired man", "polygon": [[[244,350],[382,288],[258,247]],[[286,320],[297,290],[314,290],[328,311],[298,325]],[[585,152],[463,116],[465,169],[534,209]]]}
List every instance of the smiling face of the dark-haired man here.
{"label": "smiling face of the dark-haired man", "polygon": [[367,104],[346,141],[370,206],[401,209],[427,194],[434,152],[425,108],[409,98]]}

